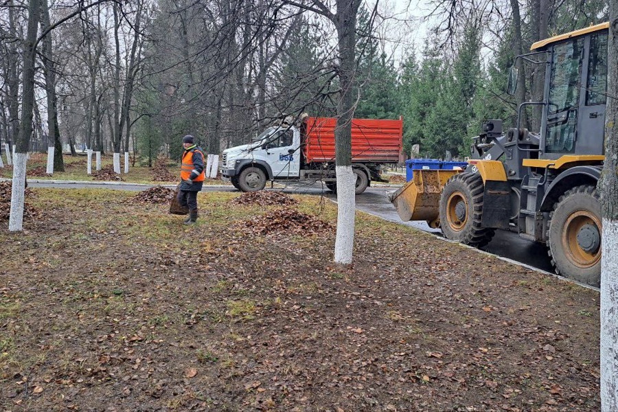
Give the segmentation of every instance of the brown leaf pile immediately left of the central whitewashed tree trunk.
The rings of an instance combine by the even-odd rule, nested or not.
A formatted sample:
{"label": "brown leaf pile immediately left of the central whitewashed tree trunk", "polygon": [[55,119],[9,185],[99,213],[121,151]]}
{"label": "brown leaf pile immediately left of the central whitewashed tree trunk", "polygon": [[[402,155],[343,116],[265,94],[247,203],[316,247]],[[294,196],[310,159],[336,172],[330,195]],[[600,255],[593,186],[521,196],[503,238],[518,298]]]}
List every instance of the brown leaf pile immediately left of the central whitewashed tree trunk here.
{"label": "brown leaf pile immediately left of the central whitewashed tree trunk", "polygon": [[332,226],[327,222],[295,209],[275,209],[242,222],[240,227],[245,233],[253,235],[285,233],[286,236],[312,236],[332,231]]}

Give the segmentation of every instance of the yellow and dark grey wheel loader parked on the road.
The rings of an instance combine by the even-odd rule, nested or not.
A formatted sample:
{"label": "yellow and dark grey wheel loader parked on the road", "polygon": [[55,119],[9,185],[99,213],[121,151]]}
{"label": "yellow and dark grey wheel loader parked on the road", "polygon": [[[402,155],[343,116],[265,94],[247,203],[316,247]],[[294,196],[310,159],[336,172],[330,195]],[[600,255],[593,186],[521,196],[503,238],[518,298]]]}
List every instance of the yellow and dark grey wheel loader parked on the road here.
{"label": "yellow and dark grey wheel loader parked on the road", "polygon": [[[534,43],[518,58],[546,65],[542,102],[518,108],[515,128],[481,125],[464,170],[414,170],[391,194],[402,220],[426,220],[444,236],[483,247],[496,229],[547,244],[556,273],[599,286],[608,23]],[[517,72],[509,76],[514,93]],[[540,106],[538,132],[521,128]]]}

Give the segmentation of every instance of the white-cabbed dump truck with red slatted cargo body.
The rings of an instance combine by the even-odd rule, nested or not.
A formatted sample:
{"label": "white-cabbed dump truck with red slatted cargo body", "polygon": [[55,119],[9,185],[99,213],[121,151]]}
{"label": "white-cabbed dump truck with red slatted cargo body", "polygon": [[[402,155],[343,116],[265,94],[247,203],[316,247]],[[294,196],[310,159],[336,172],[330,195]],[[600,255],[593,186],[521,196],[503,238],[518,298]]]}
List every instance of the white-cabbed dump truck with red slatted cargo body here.
{"label": "white-cabbed dump truck with red slatted cargo body", "polygon": [[[250,144],[223,151],[221,176],[242,192],[264,189],[266,181],[322,181],[336,190],[334,117],[289,117]],[[403,119],[352,119],[352,171],[356,194],[382,181],[382,166],[397,163]]]}

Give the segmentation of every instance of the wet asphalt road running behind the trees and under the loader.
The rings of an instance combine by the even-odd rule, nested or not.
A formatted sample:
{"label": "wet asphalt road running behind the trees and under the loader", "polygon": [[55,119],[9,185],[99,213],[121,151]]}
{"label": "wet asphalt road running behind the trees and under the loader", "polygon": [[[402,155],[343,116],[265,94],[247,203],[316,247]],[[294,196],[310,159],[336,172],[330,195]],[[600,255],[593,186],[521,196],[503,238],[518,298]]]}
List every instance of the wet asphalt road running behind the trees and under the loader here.
{"label": "wet asphalt road running behind the trees and under the loader", "polygon": [[[30,187],[56,187],[67,189],[99,188],[111,190],[130,190],[134,192],[146,190],[148,187],[152,186],[124,182],[67,182],[44,180],[28,180],[28,185]],[[175,186],[168,185],[168,187]],[[366,213],[378,216],[391,222],[415,227],[416,229],[434,233],[435,236],[442,237],[442,233],[439,229],[431,229],[431,227],[428,227],[426,222],[402,222],[397,214],[397,211],[395,210],[395,207],[391,205],[387,198],[387,194],[396,190],[396,188],[397,187],[369,187],[365,193],[356,196],[356,209],[365,211]],[[297,194],[325,194],[325,196],[336,200],[336,196],[328,190],[323,190],[320,183],[293,183],[286,185],[283,188],[275,187],[274,190],[282,190],[285,193]],[[236,189],[231,186],[207,186],[204,187],[203,191],[235,192]],[[545,245],[520,238],[517,233],[497,230],[492,241],[487,247],[483,248],[483,250],[488,253],[498,255],[502,258],[514,260],[515,262],[540,269],[541,271],[554,273]]]}

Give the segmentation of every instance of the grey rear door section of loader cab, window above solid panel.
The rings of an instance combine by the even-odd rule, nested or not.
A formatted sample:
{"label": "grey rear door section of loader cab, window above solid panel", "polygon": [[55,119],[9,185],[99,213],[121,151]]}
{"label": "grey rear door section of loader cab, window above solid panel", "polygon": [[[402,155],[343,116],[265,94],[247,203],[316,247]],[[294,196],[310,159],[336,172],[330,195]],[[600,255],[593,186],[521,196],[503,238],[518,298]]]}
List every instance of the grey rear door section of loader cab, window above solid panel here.
{"label": "grey rear door section of loader cab, window above solid panel", "polygon": [[582,91],[582,104],[577,137],[578,155],[604,153],[605,106],[607,91],[607,38],[608,33],[590,36],[586,89]]}

